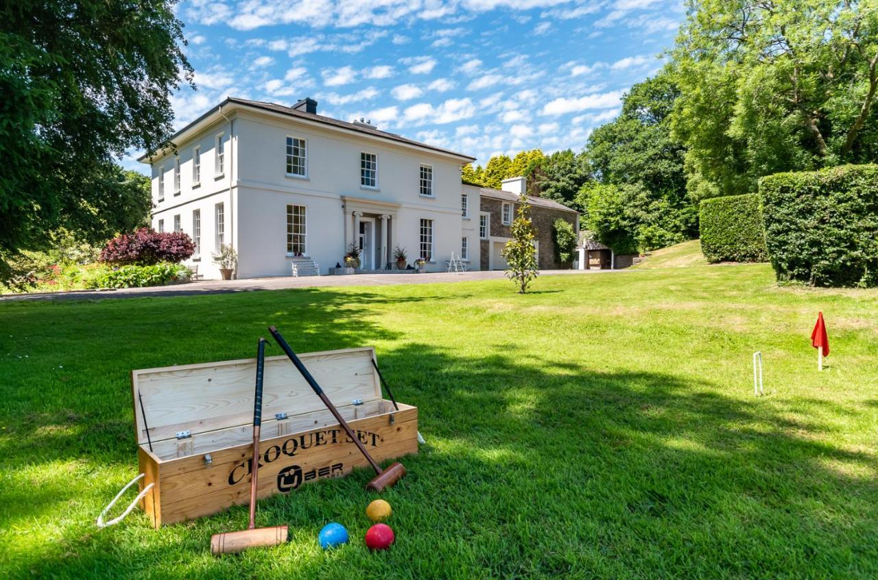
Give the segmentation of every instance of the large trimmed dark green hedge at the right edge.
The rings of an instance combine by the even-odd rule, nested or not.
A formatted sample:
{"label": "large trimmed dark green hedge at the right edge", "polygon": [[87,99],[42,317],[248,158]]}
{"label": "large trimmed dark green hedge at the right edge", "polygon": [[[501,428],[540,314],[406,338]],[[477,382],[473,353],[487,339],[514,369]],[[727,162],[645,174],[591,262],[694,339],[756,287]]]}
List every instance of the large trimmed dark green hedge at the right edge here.
{"label": "large trimmed dark green hedge at the right edge", "polygon": [[878,165],[768,175],[759,195],[779,280],[878,286]]}

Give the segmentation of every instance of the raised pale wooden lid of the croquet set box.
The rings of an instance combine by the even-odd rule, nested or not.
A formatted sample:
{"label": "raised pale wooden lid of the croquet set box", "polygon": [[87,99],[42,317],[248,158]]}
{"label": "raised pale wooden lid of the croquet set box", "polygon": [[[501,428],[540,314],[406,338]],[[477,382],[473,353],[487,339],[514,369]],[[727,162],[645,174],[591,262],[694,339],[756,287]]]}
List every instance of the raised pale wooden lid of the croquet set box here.
{"label": "raised pale wooden lid of the croquet set box", "polygon": [[[299,354],[336,407],[381,399],[374,357],[371,347]],[[265,357],[263,377],[263,421],[325,408],[286,356]],[[147,443],[147,426],[157,442],[252,424],[255,380],[255,358],[132,371],[138,445]]]}

